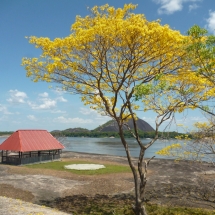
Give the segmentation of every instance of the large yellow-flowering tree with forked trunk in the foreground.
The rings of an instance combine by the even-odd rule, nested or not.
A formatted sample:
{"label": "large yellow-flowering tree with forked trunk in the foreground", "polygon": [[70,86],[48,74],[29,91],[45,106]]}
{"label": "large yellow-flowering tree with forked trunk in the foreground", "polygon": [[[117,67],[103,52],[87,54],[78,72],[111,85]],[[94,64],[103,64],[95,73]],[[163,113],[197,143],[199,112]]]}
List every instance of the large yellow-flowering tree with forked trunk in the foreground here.
{"label": "large yellow-flowering tree with forked trunk in the foreground", "polygon": [[[150,159],[144,159],[145,151],[156,141],[159,126],[183,105],[174,103],[174,108],[159,112],[156,136],[144,145],[136,126],[136,111],[140,107],[135,87],[174,77],[177,71],[185,70],[187,62],[182,60],[186,55],[182,49],[185,36],[162,26],[159,20],[149,22],[144,15],[132,13],[135,8],[132,4],[117,9],[95,6],[89,16],[76,17],[68,37],[53,41],[29,37],[42,54],[38,58],[23,58],[22,65],[33,81],[58,83],[64,90],[79,94],[85,105],[116,120],[134,176],[134,212],[146,215],[144,191]],[[123,134],[128,119],[132,119],[134,130],[130,132],[140,148],[137,162],[131,159]]]}

